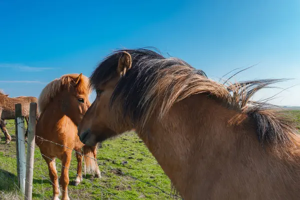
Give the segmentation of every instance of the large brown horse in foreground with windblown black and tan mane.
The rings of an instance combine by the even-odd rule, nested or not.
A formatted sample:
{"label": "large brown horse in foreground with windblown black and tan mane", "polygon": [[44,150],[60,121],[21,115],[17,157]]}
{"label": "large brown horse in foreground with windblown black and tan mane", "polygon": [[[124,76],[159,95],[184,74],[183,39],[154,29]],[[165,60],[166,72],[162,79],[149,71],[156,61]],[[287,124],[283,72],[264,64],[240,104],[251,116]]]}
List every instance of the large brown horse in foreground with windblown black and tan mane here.
{"label": "large brown horse in foreground with windblown black and tan mane", "polygon": [[250,101],[280,79],[227,86],[178,58],[116,51],[93,71],[86,145],[135,128],[184,199],[300,199],[300,139],[282,114]]}

